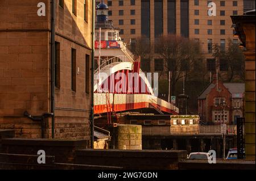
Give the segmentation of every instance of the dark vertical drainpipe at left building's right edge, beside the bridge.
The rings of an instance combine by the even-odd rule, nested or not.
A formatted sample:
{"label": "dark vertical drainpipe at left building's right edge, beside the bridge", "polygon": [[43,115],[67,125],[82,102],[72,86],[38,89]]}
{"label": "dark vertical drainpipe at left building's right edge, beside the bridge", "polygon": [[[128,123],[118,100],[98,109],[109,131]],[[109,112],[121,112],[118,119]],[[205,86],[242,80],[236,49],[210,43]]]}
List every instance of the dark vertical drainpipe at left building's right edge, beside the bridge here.
{"label": "dark vertical drainpipe at left building's right edge, beside the bridge", "polygon": [[90,148],[93,149],[93,143],[94,143],[94,117],[93,117],[93,86],[94,86],[94,26],[95,26],[95,0],[92,0],[92,69],[91,74],[92,78],[91,81],[91,106],[90,106]]}

